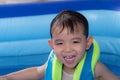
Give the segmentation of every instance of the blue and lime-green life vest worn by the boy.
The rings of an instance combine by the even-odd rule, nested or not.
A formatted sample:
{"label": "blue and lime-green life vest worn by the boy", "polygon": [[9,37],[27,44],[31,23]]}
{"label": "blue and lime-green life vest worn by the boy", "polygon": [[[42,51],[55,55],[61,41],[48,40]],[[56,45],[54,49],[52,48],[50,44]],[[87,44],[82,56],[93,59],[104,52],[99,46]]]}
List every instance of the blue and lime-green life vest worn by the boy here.
{"label": "blue and lime-green life vest worn by the boy", "polygon": [[[94,69],[99,59],[100,50],[97,42],[93,40],[93,44],[88,51],[85,52],[84,58],[78,63],[73,80],[94,80]],[[51,51],[44,80],[62,80],[62,63]]]}

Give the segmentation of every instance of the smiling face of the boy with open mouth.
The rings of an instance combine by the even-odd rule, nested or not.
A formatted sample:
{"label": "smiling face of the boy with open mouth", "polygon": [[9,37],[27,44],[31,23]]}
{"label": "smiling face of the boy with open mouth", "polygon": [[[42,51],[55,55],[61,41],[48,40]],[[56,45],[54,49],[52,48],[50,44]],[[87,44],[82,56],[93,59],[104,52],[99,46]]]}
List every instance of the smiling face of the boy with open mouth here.
{"label": "smiling face of the boy with open mouth", "polygon": [[83,58],[85,50],[89,48],[89,39],[86,39],[83,31],[82,27],[74,33],[70,33],[66,28],[61,33],[60,29],[55,29],[52,40],[48,41],[57,58],[66,68],[74,69]]}

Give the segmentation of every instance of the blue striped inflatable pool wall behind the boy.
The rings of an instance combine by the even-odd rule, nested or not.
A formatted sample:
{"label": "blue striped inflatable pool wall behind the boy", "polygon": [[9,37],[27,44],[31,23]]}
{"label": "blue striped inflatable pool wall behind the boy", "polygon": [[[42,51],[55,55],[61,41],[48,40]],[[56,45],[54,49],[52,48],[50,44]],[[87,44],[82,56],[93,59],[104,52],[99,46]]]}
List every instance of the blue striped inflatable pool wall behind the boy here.
{"label": "blue striped inflatable pool wall behind the boy", "polygon": [[120,76],[120,1],[57,1],[0,5],[0,75],[47,60],[49,27],[61,10],[83,13],[100,45],[100,61]]}

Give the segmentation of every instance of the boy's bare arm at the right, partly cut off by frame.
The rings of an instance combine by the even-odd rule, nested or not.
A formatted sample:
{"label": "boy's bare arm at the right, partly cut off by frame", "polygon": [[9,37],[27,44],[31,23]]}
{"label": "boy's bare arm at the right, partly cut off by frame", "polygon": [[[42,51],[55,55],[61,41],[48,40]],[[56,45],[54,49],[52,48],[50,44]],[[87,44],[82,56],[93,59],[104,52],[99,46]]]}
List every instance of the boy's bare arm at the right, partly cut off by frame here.
{"label": "boy's bare arm at the right, partly cut off by frame", "polygon": [[100,80],[120,80],[100,62],[96,64],[95,76],[99,77]]}

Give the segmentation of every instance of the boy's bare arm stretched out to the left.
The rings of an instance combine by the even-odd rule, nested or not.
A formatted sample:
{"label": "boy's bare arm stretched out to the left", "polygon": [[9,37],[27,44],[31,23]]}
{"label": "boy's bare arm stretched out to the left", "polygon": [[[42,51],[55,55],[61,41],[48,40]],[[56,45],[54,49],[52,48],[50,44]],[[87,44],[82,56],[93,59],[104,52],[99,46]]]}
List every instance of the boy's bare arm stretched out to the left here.
{"label": "boy's bare arm stretched out to the left", "polygon": [[31,67],[2,76],[0,80],[40,80],[44,77],[46,64],[40,67]]}

